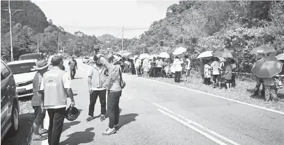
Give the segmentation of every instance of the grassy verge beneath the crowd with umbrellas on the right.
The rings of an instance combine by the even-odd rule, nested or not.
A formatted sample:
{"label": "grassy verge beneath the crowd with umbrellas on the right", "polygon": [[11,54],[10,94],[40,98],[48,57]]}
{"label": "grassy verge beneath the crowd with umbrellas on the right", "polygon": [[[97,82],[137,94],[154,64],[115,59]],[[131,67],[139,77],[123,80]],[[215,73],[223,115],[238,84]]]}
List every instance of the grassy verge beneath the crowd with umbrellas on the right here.
{"label": "grassy verge beneath the crowd with umbrellas on the right", "polygon": [[[141,76],[146,78],[145,76]],[[222,84],[222,89],[213,88],[212,85],[205,85],[203,84],[203,80],[201,80],[199,73],[196,71],[191,71],[189,77],[189,83],[186,82],[186,76],[182,75],[180,78],[180,83],[175,83],[174,78],[150,78],[153,80],[159,80],[164,83],[170,83],[173,85],[179,85],[182,87],[188,87],[190,89],[196,89],[203,92],[207,92],[210,94],[223,96],[228,99],[235,99],[237,101],[243,101],[246,103],[251,103],[253,105],[258,105],[264,108],[270,108],[273,110],[278,110],[284,112],[284,89],[278,89],[278,99],[276,102],[269,101],[268,103],[265,102],[265,96],[258,95],[253,96],[254,88],[255,88],[255,80],[248,78],[244,79],[244,77],[236,77],[236,87],[230,90],[226,90],[225,84]],[[212,80],[211,80],[212,81]],[[261,92],[262,87],[260,87]],[[261,94],[261,93],[260,93]]]}

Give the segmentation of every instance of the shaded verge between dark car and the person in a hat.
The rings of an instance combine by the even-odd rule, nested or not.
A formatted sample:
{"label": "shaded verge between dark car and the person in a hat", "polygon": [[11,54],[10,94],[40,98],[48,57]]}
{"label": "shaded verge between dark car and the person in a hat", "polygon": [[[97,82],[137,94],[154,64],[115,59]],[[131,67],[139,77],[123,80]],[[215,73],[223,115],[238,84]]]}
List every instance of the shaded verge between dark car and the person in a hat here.
{"label": "shaded verge between dark car and the person in a hat", "polygon": [[19,99],[19,131],[14,137],[6,137],[1,144],[26,145],[29,142],[31,126],[33,126],[33,108],[30,97]]}

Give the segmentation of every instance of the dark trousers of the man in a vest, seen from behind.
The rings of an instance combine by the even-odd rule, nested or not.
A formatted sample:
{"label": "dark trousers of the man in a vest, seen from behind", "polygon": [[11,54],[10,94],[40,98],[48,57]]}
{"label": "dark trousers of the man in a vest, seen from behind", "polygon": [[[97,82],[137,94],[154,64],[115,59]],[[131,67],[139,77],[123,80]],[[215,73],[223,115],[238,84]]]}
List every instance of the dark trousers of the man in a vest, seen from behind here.
{"label": "dark trousers of the man in a vest, seen from behind", "polygon": [[58,145],[63,129],[66,108],[47,109],[49,115],[48,144]]}

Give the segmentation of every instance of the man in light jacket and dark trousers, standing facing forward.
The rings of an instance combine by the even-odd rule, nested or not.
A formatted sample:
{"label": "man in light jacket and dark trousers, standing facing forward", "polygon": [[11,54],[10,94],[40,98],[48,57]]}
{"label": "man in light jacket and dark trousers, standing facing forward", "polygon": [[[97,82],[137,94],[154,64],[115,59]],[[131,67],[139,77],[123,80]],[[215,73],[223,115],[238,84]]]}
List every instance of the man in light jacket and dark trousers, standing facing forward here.
{"label": "man in light jacket and dark trousers, standing facing forward", "polygon": [[[102,56],[101,54],[97,54],[98,56]],[[97,57],[93,58],[95,64],[91,67],[88,72],[88,87],[90,92],[90,104],[88,111],[88,118],[86,121],[91,121],[94,117],[95,103],[97,101],[97,96],[100,98],[101,104],[101,121],[106,119],[106,95],[107,88],[103,87],[105,81],[107,80],[107,76],[109,76],[109,70],[107,67],[104,67],[102,63],[97,60]]]}

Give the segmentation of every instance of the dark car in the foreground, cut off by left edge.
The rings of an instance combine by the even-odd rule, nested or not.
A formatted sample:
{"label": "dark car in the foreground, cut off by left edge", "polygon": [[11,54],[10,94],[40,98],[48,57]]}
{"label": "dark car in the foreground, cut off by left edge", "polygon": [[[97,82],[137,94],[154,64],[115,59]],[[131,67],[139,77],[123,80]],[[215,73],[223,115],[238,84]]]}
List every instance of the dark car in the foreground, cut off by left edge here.
{"label": "dark car in the foreground, cut off by left edge", "polygon": [[11,69],[1,59],[1,141],[19,129],[19,100]]}

